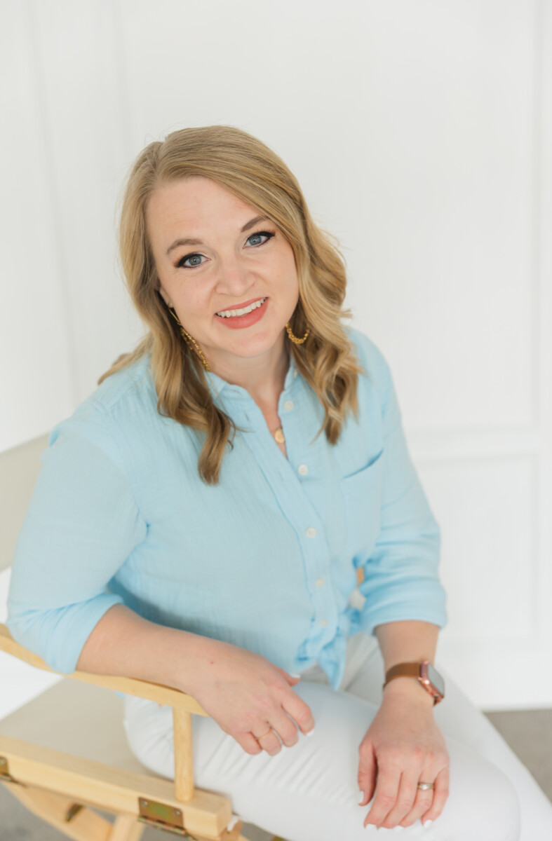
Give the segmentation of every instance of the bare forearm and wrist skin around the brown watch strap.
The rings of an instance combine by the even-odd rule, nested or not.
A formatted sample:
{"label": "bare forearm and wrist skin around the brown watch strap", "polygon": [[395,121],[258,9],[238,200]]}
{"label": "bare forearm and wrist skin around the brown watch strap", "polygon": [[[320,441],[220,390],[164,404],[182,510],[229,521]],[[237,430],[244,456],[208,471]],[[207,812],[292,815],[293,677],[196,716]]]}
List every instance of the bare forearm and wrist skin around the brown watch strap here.
{"label": "bare forearm and wrist skin around the brown watch strap", "polygon": [[[398,663],[413,663],[429,660],[434,663],[437,650],[438,625],[418,620],[385,622],[374,628],[385,672]],[[427,704],[433,705],[433,699],[417,680],[400,677],[391,680],[385,687],[384,696],[406,692]]]}

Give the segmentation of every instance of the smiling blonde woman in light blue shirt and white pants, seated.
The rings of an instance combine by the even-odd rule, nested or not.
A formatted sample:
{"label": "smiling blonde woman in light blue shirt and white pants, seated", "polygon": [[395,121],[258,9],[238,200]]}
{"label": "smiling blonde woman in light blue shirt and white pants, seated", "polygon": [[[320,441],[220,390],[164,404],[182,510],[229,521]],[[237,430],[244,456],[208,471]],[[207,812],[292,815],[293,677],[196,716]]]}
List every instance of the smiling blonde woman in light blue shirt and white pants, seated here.
{"label": "smiling blonde woman in light blue shirt and white pants, seated", "polygon": [[[194,696],[195,784],[289,841],[547,837],[491,724],[440,666],[417,677],[446,621],[439,528],[295,177],[241,130],[176,131],[135,161],[119,244],[148,332],[50,434],[13,637]],[[173,776],[170,709],[125,697],[125,727]]]}

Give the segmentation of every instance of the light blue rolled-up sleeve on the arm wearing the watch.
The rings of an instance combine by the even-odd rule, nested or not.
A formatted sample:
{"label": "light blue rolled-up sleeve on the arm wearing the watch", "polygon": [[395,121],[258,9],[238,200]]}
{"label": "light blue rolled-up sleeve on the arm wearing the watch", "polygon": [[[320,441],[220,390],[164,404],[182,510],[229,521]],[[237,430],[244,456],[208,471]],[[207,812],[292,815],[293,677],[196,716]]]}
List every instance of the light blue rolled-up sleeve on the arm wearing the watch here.
{"label": "light blue rolled-up sleeve on the arm wearing the watch", "polygon": [[384,622],[410,619],[443,627],[447,612],[438,577],[440,528],[406,445],[390,367],[372,341],[368,351],[380,393],[384,462],[380,533],[358,588],[365,598],[360,625],[370,634]]}

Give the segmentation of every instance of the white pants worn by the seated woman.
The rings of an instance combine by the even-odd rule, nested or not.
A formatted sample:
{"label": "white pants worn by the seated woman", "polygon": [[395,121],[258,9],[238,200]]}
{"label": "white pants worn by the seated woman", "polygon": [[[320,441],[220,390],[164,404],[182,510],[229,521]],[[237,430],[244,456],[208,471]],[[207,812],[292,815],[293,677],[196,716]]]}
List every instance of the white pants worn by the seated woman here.
{"label": "white pants worn by the seated woman", "polygon": [[[418,820],[401,838],[427,841],[548,841],[552,804],[491,722],[443,666],[446,697],[434,707],[450,756],[449,799],[429,827]],[[347,667],[333,690],[318,664],[293,690],[311,707],[314,733],[270,756],[247,754],[212,719],[193,716],[194,782],[231,799],[234,814],[287,841],[387,838],[396,828],[364,828],[358,806],[358,745],[381,702],[384,664],[374,637],[348,640]],[[174,779],[173,711],[125,696],[130,749],[150,770]],[[399,830],[401,831],[401,830]]]}

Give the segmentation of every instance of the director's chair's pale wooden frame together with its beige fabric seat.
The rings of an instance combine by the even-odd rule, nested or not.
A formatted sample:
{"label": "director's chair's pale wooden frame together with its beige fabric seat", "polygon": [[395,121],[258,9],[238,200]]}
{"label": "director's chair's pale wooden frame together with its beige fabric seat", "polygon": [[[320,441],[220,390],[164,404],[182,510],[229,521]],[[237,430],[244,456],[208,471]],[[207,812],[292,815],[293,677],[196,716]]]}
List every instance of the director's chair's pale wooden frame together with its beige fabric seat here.
{"label": "director's chair's pale wooden frame together with its beige fabric seat", "polygon": [[[61,674],[2,624],[0,650]],[[242,821],[228,829],[230,799],[194,788],[192,715],[207,715],[194,698],[135,678],[62,676],[72,680],[0,719],[0,782],[30,812],[75,841],[140,841],[146,825],[195,841],[247,841]],[[151,774],[131,753],[114,690],[173,707],[174,781]],[[113,813],[114,822],[94,808]]]}

